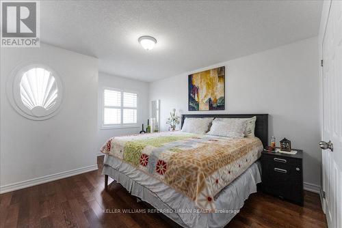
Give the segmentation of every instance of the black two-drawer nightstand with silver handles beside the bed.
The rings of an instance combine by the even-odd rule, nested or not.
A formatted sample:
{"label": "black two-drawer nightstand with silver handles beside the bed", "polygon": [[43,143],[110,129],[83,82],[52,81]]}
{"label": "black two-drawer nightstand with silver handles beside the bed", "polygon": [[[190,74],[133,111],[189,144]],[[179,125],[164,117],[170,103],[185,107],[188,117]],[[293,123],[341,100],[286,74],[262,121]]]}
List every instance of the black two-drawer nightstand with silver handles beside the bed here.
{"label": "black two-drawer nightstand with silver handles beside the bed", "polygon": [[297,154],[261,152],[262,186],[265,193],[303,205],[303,151]]}

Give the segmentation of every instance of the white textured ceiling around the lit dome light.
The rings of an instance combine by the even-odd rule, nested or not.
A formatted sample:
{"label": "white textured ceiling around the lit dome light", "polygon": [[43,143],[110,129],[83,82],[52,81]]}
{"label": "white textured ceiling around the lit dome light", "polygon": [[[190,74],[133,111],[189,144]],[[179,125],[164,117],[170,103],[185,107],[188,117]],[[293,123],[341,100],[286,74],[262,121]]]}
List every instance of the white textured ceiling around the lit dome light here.
{"label": "white textured ceiling around the lit dome light", "polygon": [[[140,81],[250,55],[318,33],[321,1],[42,1],[42,42],[98,57]],[[137,39],[158,42],[145,51]]]}

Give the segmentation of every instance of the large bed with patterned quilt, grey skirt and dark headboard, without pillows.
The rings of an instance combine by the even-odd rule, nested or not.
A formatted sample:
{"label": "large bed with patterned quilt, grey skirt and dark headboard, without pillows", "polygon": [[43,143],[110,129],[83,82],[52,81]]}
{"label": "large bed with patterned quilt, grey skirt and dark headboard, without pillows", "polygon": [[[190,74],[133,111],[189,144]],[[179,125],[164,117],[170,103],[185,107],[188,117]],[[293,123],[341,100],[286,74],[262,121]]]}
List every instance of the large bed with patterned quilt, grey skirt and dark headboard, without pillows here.
{"label": "large bed with patterned quilt, grey skirt and dark headboard, without pillows", "polygon": [[185,118],[257,117],[255,137],[158,132],[109,139],[103,174],[182,227],[224,227],[261,182],[267,114],[182,115]]}

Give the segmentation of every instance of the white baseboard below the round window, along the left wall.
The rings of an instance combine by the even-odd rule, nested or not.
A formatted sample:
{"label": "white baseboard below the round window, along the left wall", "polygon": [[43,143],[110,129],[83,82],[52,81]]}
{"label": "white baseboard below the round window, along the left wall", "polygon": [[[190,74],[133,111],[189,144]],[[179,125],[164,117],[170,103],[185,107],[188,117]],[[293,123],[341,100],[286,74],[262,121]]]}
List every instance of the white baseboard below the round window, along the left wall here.
{"label": "white baseboard below the round window, along the left wall", "polygon": [[87,173],[87,172],[94,171],[94,170],[97,170],[97,169],[98,169],[97,165],[90,165],[88,167],[82,167],[82,168],[79,168],[79,169],[73,169],[73,170],[64,171],[64,172],[61,172],[61,173],[45,175],[43,177],[38,177],[38,178],[31,179],[31,180],[25,180],[23,182],[16,182],[16,183],[13,183],[13,184],[6,184],[6,185],[3,185],[3,186],[0,186],[0,194],[12,192],[14,190],[19,190],[19,189],[22,189],[22,188],[28,188],[28,187],[35,186],[35,185],[38,185],[38,184],[44,184],[44,183],[47,183],[47,182],[52,182],[53,180],[60,180],[60,179],[66,178],[66,177],[71,177],[73,175],[78,175],[78,174],[81,174],[81,173]]}

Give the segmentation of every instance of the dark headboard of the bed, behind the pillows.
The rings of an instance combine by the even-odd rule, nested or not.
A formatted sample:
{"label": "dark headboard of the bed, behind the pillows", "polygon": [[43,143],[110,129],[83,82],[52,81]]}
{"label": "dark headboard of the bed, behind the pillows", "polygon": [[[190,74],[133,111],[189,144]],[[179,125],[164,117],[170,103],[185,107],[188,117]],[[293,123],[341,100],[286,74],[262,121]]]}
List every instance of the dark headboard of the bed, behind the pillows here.
{"label": "dark headboard of the bed, behind the pillows", "polygon": [[183,128],[184,119],[188,118],[203,118],[203,117],[214,117],[214,118],[250,118],[257,117],[255,122],[254,135],[258,137],[263,146],[268,145],[268,114],[184,114],[181,119],[181,127]]}

